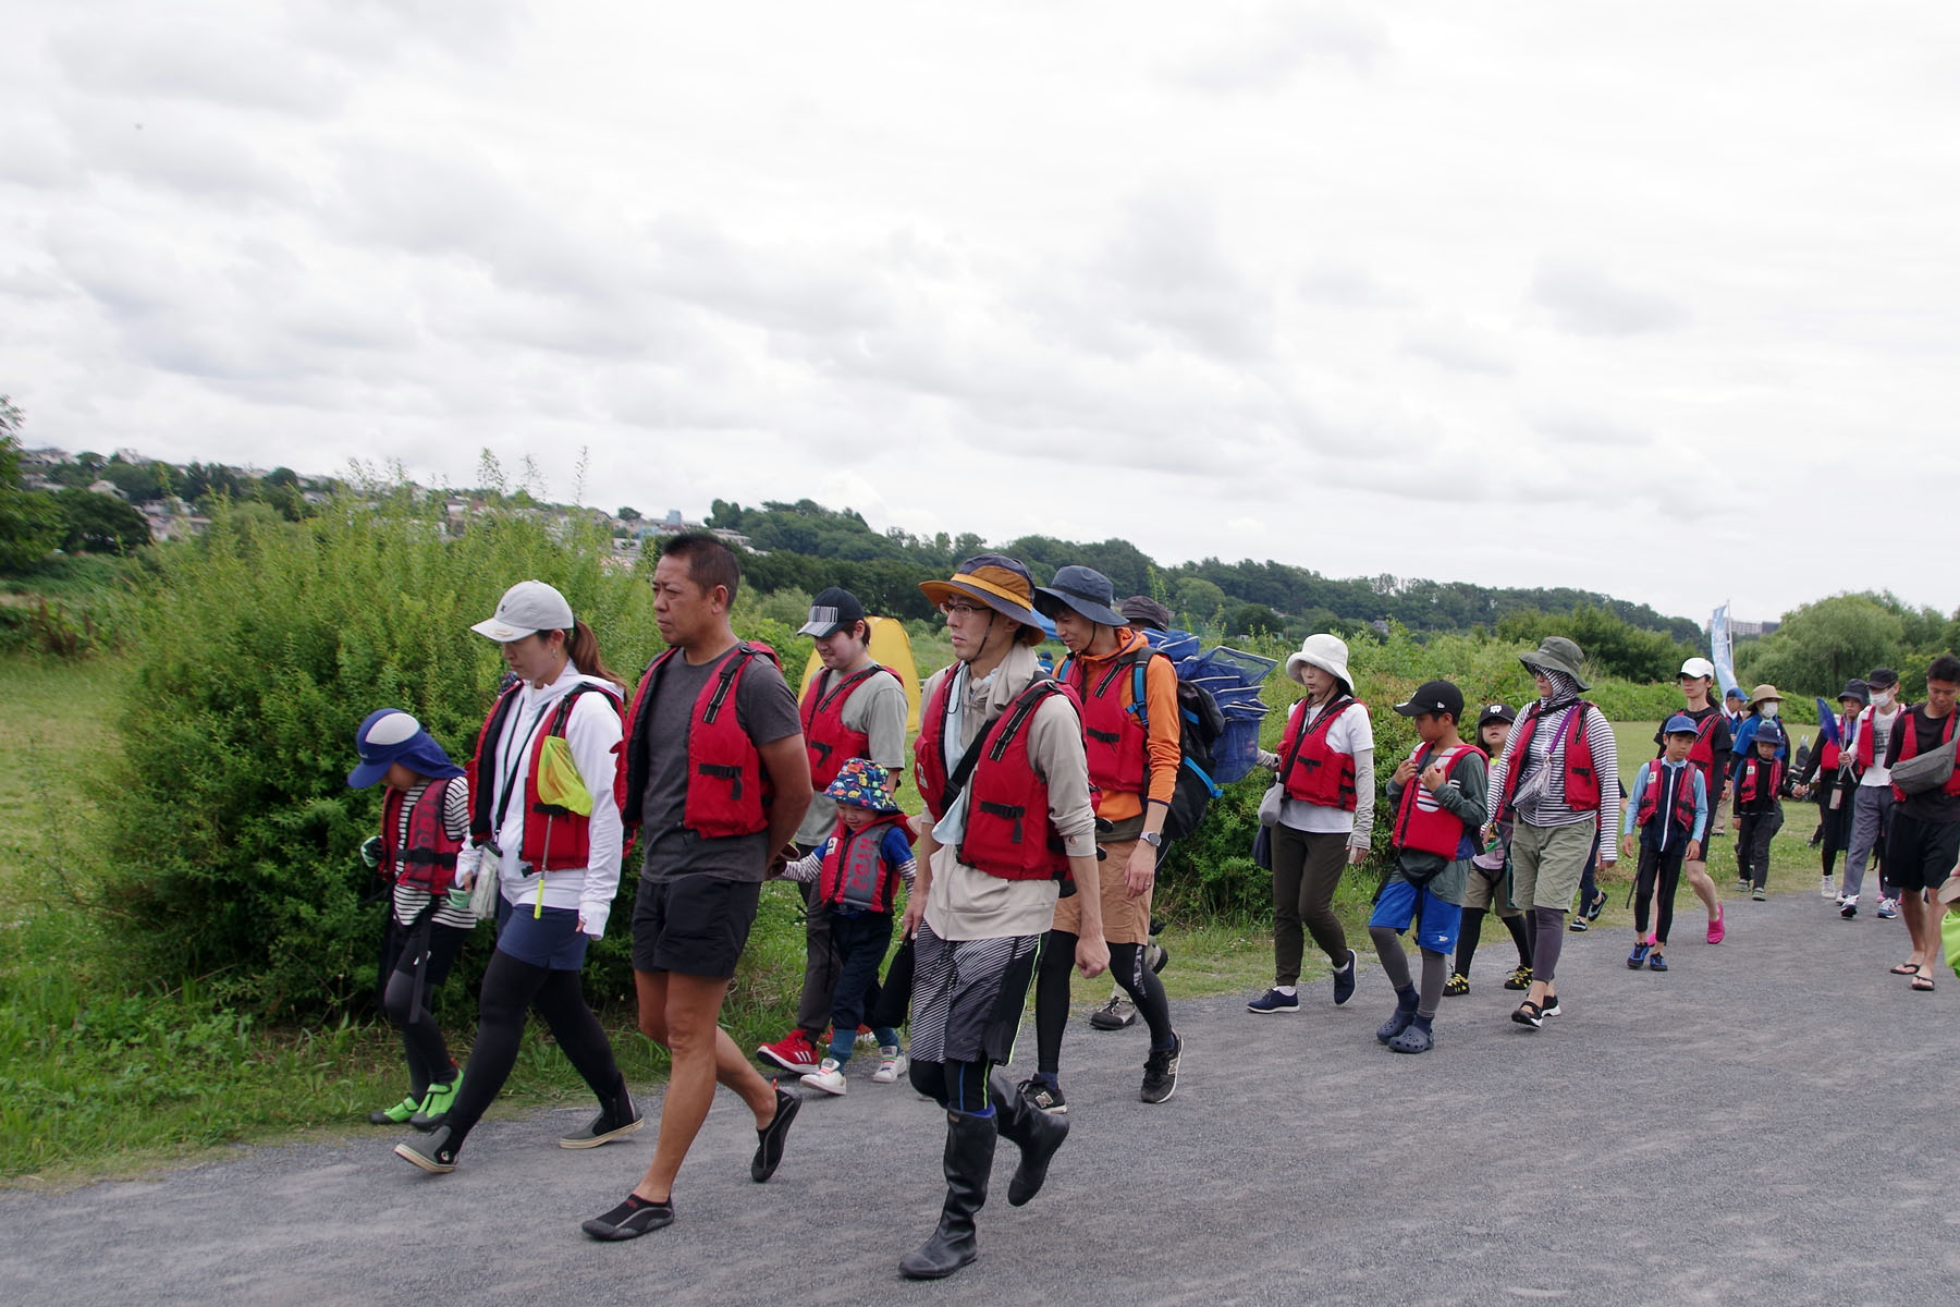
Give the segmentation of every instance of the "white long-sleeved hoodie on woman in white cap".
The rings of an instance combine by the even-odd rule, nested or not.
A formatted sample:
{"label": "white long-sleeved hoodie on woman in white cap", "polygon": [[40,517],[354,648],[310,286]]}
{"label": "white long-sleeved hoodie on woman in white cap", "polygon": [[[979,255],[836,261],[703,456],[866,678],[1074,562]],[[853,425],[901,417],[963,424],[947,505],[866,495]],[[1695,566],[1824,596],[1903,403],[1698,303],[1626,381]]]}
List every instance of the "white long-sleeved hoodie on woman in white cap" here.
{"label": "white long-sleeved hoodie on woman in white cap", "polygon": [[[476,784],[496,786],[490,792],[490,811],[504,803],[506,790],[512,792],[504,805],[504,823],[498,827],[496,843],[504,850],[498,864],[498,884],[504,899],[514,907],[533,907],[539,901],[539,880],[543,880],[545,907],[570,907],[584,923],[584,933],[592,939],[606,935],[606,919],[612,915],[613,896],[619,894],[619,847],[623,827],[619,823],[619,803],[613,798],[613,774],[619,762],[619,713],[598,694],[582,694],[572,703],[572,715],[564,723],[564,743],[578,764],[578,776],[592,792],[590,856],[586,866],[559,872],[529,872],[517,860],[523,848],[523,784],[531,774],[533,727],[545,729],[543,717],[551,713],[559,700],[580,682],[600,686],[617,694],[617,686],[598,676],[586,676],[570,662],[559,678],[543,690],[525,682],[517,690],[517,702],[504,717],[504,733],[492,754],[494,774],[478,776]],[[541,821],[541,817],[531,817]]]}

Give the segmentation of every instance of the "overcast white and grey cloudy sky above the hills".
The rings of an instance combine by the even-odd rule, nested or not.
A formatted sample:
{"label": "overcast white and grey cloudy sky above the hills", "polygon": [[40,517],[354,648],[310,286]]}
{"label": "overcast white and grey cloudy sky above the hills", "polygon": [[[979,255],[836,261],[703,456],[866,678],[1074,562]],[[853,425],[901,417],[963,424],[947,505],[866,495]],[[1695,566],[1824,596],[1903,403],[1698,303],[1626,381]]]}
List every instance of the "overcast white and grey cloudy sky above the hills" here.
{"label": "overcast white and grey cloudy sky above the hills", "polygon": [[1935,0],[18,0],[0,392],[29,445],[1952,609],[1872,509],[1960,464],[1956,45]]}

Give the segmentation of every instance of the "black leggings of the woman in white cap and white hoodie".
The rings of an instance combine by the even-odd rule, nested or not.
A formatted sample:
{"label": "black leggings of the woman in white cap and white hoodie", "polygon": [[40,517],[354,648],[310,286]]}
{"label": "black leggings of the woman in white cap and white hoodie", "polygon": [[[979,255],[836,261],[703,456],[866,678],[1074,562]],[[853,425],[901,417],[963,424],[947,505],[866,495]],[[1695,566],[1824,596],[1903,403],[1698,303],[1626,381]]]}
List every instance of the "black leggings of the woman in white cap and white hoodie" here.
{"label": "black leggings of the woman in white cap and white hoodie", "polygon": [[617,1099],[623,1078],[613,1062],[612,1042],[600,1019],[586,1007],[578,972],[555,972],[519,962],[508,952],[492,952],[484,968],[484,988],[476,1003],[476,1046],[463,1068],[463,1091],[449,1109],[449,1140],[461,1144],[490,1103],[496,1101],[510,1068],[517,1064],[525,1009],[535,1007],[551,1037],[584,1076],[600,1105]]}

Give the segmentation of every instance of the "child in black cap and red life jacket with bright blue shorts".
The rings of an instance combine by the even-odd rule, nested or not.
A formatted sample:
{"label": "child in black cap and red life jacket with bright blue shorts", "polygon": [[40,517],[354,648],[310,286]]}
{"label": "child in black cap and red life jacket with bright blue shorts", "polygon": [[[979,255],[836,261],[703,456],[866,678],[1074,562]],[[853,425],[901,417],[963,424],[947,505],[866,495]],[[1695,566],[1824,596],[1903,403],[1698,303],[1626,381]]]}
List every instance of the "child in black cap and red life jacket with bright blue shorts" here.
{"label": "child in black cap and red life jacket with bright blue shorts", "polygon": [[[1490,780],[1484,752],[1456,733],[1462,690],[1446,680],[1423,682],[1407,703],[1396,703],[1396,711],[1415,719],[1421,743],[1388,782],[1388,801],[1396,807],[1396,862],[1376,896],[1368,937],[1396,986],[1396,1011],[1374,1037],[1396,1052],[1429,1052]],[[1411,925],[1423,954],[1421,992],[1397,939]]]}

